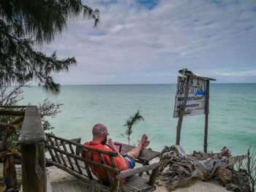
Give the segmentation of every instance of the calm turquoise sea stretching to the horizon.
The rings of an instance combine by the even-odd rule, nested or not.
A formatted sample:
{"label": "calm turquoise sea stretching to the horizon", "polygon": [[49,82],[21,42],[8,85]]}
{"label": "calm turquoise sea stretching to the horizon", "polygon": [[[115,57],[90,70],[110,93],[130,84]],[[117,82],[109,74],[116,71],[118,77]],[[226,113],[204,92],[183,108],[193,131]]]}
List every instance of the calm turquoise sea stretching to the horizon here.
{"label": "calm turquoise sea stretching to the horizon", "polygon": [[[45,98],[64,104],[50,123],[53,133],[82,142],[91,140],[95,123],[105,123],[110,137],[118,142],[127,118],[140,110],[145,119],[133,126],[132,144],[146,133],[153,150],[161,151],[176,142],[178,118],[173,118],[176,84],[171,85],[62,85],[59,96],[50,96],[37,86],[26,88],[19,104],[37,105]],[[184,117],[181,146],[186,153],[203,151],[205,115]],[[256,83],[210,85],[208,150],[228,147],[232,155],[256,145]]]}

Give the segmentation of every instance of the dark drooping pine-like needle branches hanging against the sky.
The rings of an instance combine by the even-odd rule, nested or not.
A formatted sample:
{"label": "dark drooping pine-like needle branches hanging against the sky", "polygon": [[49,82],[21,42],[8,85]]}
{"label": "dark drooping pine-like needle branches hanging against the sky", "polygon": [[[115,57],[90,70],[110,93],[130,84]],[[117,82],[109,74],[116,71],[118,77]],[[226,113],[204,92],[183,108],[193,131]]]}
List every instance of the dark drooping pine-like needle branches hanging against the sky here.
{"label": "dark drooping pine-like needle branches hanging against the sky", "polygon": [[34,47],[48,45],[81,12],[97,26],[99,10],[80,0],[0,0],[0,84],[34,80],[45,91],[59,93],[51,75],[68,71],[75,58],[59,60],[56,52],[47,56]]}

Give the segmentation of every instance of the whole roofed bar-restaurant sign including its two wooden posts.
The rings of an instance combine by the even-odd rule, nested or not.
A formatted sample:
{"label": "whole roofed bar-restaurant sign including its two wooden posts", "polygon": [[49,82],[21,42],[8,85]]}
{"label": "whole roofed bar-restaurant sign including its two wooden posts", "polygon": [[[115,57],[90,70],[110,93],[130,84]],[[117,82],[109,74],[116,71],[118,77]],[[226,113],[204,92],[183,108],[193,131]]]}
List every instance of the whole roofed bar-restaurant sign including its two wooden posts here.
{"label": "whole roofed bar-restaurant sign including its two wooden posts", "polygon": [[203,151],[207,153],[210,80],[215,79],[197,76],[187,69],[178,72],[183,77],[178,77],[173,112],[173,118],[178,118],[176,145],[180,145],[183,117],[205,114]]}

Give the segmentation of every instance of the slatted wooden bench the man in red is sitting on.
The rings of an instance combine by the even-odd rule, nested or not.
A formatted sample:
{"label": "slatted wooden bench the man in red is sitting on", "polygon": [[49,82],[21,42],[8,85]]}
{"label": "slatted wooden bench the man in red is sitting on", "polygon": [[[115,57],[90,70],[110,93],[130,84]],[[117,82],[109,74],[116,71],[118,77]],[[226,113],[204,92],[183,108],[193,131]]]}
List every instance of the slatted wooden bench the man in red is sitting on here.
{"label": "slatted wooden bench the man in red is sitting on", "polygon": [[[45,148],[50,154],[50,158],[46,158],[47,164],[58,167],[59,169],[72,174],[80,180],[83,180],[89,185],[100,189],[101,191],[154,191],[155,180],[159,171],[160,163],[148,164],[146,166],[135,167],[135,169],[128,169],[120,172],[116,168],[113,158],[118,153],[109,152],[105,150],[99,150],[97,148],[81,145],[78,142],[71,141],[69,139],[63,139],[53,136],[51,134],[45,134],[47,141],[45,142]],[[103,154],[109,155],[113,166],[108,166],[102,161],[102,163],[93,161],[89,158],[84,158],[83,149],[89,151],[89,153],[97,152],[102,157]],[[90,166],[100,167],[105,169],[108,177],[108,184],[105,184],[100,177],[97,177],[91,172]],[[149,179],[146,180],[143,177],[139,177],[137,174],[152,171]],[[113,177],[110,178],[110,174]],[[123,184],[121,178],[126,177],[126,182]]]}

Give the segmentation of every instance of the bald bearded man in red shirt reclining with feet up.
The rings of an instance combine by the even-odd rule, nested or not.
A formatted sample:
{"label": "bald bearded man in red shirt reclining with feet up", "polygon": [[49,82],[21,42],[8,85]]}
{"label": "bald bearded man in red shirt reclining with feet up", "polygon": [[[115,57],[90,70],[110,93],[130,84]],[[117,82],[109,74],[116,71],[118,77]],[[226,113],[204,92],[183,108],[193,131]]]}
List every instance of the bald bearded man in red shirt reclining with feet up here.
{"label": "bald bearded man in red shirt reclining with feet up", "polygon": [[[85,142],[84,145],[98,148],[100,150],[108,150],[108,151],[113,151],[118,153],[118,156],[115,157],[114,160],[116,161],[117,168],[120,169],[121,171],[124,171],[127,169],[133,169],[135,167],[135,159],[138,158],[138,155],[140,155],[140,152],[149,145],[148,136],[144,134],[143,137],[141,137],[137,147],[133,148],[128,153],[121,155],[116,149],[112,139],[108,139],[108,142],[107,142],[108,128],[102,123],[97,123],[94,126],[94,128],[92,129],[92,136],[93,137],[91,142]],[[86,158],[91,158],[90,153],[88,153],[86,149],[84,150],[85,150]],[[94,161],[101,162],[99,153],[93,152],[92,156]],[[113,166],[110,161],[110,157],[108,155],[103,154],[103,158],[104,158],[105,164],[109,166]],[[90,167],[91,167],[91,171],[95,175],[99,174],[99,177],[102,179],[102,181],[107,182],[108,179],[104,169],[102,168],[94,169],[94,166],[90,166]],[[112,178],[111,174],[110,174],[110,177]],[[122,182],[124,183],[124,180],[122,180]]]}

